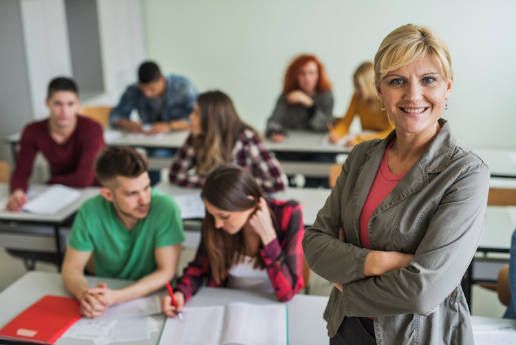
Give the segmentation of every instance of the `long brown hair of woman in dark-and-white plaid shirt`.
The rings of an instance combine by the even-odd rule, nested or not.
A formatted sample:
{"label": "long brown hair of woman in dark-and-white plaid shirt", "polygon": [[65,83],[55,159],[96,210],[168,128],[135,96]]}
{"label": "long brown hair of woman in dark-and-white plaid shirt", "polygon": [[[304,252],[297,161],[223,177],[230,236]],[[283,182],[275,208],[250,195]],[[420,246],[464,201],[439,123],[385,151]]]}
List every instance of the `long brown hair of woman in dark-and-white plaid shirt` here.
{"label": "long brown hair of woman in dark-and-white plaid shirt", "polygon": [[231,151],[239,134],[252,127],[240,120],[228,95],[220,91],[197,98],[202,134],[193,138],[197,173],[208,174],[219,165],[230,163]]}

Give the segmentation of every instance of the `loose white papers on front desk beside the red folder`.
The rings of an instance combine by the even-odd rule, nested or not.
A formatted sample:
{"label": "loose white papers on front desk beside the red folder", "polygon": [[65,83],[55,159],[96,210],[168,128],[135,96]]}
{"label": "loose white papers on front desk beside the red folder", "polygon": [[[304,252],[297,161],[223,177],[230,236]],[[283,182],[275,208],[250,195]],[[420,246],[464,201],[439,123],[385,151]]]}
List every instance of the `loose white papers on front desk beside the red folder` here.
{"label": "loose white papers on front desk beside the red folder", "polygon": [[161,313],[160,298],[150,296],[111,306],[97,319],[82,318],[63,337],[91,340],[95,345],[151,339],[160,323],[149,315]]}

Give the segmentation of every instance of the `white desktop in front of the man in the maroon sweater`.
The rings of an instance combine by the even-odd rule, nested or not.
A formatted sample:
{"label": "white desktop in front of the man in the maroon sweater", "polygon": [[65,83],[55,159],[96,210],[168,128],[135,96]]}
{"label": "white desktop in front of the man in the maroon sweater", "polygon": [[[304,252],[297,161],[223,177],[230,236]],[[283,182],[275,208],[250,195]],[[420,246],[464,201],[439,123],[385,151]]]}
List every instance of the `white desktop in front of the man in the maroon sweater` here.
{"label": "white desktop in front of the man in the maroon sweater", "polygon": [[[48,185],[31,185],[31,189],[36,189],[37,191],[44,191],[47,189]],[[28,212],[9,212],[4,211],[3,206],[0,209],[0,221],[16,221],[16,222],[39,222],[39,223],[47,223],[47,224],[60,224],[64,222],[69,216],[72,216],[80,207],[83,205],[85,200],[96,196],[100,191],[100,187],[87,187],[87,188],[78,188],[78,190],[82,193],[80,198],[69,204],[67,207],[61,209],[55,214],[52,215],[44,215],[44,214],[34,214]],[[6,183],[0,183],[0,200],[5,200],[9,197],[9,186]]]}

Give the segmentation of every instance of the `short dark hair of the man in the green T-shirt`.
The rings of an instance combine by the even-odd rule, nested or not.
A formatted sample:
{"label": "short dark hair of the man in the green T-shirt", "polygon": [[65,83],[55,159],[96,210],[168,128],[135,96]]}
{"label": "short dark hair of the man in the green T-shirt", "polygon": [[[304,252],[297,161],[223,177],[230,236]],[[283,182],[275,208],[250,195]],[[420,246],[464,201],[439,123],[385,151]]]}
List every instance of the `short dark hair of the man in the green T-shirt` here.
{"label": "short dark hair of the man in the green T-shirt", "polygon": [[107,146],[95,160],[95,176],[103,186],[118,176],[137,178],[147,171],[147,158],[129,146]]}

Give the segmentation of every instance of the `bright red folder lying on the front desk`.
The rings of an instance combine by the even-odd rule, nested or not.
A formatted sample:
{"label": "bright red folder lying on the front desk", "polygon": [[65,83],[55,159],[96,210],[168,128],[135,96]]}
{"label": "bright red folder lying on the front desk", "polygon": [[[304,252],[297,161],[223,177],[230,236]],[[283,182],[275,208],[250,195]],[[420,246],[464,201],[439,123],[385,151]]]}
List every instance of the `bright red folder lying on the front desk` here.
{"label": "bright red folder lying on the front desk", "polygon": [[3,327],[0,338],[54,344],[79,319],[77,300],[46,295]]}

